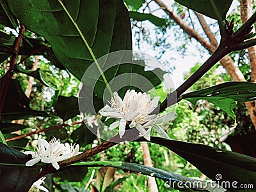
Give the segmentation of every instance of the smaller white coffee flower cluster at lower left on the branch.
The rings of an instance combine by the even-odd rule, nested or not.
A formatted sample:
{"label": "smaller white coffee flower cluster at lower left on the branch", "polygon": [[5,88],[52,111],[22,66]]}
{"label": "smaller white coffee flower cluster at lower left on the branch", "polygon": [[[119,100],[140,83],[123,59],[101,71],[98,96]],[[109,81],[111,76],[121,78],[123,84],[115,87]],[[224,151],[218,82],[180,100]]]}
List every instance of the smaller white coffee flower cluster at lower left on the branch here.
{"label": "smaller white coffee flower cluster at lower left on the branch", "polygon": [[68,143],[61,144],[60,139],[52,138],[51,142],[47,142],[46,140],[39,138],[38,139],[38,147],[36,147],[37,151],[25,151],[25,154],[31,154],[32,159],[26,163],[26,166],[33,166],[39,161],[42,163],[51,163],[56,170],[60,168],[58,162],[63,161],[65,159],[71,158],[72,156],[76,156],[79,152],[79,145],[70,145]]}

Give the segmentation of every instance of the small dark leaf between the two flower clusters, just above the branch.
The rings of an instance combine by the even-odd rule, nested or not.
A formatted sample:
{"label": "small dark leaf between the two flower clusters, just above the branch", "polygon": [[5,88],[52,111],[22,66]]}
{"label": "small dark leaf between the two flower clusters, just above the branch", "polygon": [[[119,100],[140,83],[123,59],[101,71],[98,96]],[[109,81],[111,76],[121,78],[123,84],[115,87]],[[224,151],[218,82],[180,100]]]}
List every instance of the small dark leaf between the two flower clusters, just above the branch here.
{"label": "small dark leaf between the two flower clusters, just above the branch", "polygon": [[96,135],[94,135],[92,131],[83,124],[71,134],[71,138],[76,142],[76,144],[84,147],[85,145],[92,143],[93,140],[95,140]]}

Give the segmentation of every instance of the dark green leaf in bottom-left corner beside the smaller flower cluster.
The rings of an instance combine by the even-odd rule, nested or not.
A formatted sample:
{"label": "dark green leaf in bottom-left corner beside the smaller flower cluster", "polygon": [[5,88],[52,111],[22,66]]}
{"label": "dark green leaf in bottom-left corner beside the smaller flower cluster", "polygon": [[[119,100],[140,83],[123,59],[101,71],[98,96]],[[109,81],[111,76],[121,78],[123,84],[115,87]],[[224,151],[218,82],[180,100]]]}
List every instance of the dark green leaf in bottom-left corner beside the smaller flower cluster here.
{"label": "dark green leaf in bottom-left corner beside the smaller flower cluster", "polygon": [[[0,143],[0,163],[25,164],[30,158],[12,147]],[[7,166],[0,165],[1,191],[29,191],[36,175],[40,172],[40,166]]]}

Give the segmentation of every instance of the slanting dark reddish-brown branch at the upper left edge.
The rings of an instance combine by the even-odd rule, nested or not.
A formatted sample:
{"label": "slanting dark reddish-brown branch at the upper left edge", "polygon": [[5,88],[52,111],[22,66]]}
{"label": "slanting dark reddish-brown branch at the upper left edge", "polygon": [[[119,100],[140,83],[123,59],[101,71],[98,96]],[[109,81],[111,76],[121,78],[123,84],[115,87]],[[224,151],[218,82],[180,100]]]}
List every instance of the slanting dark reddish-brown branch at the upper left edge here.
{"label": "slanting dark reddish-brown branch at the upper left edge", "polygon": [[19,36],[15,39],[13,45],[14,45],[14,51],[12,54],[12,58],[10,60],[10,66],[8,71],[3,77],[3,82],[1,82],[1,90],[0,90],[0,120],[1,120],[1,114],[3,112],[3,107],[4,107],[4,100],[6,98],[6,94],[8,91],[8,87],[10,84],[10,80],[13,75],[13,68],[16,64],[19,48],[20,48],[20,43],[22,42],[22,39],[24,38],[24,32],[25,32],[25,27],[23,25],[20,25],[20,32]]}

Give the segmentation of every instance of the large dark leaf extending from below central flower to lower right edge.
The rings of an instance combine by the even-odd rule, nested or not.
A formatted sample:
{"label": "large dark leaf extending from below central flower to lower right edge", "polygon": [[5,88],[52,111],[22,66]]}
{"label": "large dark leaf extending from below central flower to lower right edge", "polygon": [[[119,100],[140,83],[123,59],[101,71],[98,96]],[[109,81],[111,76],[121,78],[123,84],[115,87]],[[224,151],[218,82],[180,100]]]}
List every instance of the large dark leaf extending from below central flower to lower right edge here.
{"label": "large dark leaf extending from below central flower to lower right edge", "polygon": [[[141,140],[145,140],[141,138]],[[163,145],[196,166],[207,177],[217,182],[229,182],[229,191],[239,191],[232,184],[256,183],[256,158],[179,140],[151,137],[150,142]],[[219,177],[222,179],[218,180]],[[243,191],[243,190],[242,190]],[[255,188],[247,191],[256,191]]]}

